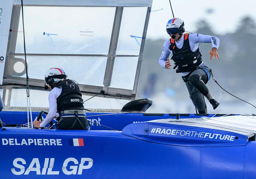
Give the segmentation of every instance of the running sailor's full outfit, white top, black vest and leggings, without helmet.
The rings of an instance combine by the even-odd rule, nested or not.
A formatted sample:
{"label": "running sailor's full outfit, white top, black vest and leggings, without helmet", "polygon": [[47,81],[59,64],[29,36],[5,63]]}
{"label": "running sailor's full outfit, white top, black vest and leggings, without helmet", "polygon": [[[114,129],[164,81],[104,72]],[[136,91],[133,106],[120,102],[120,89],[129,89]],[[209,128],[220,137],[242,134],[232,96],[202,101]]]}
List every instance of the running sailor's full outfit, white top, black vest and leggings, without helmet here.
{"label": "running sailor's full outfit, white top, black vest and leggings, without helmet", "polygon": [[219,47],[217,37],[202,34],[183,34],[179,41],[174,42],[172,39],[165,41],[159,64],[165,68],[166,59],[170,53],[172,54],[172,60],[175,62],[175,66],[177,65],[176,72],[182,73],[190,98],[196,109],[202,114],[207,113],[204,96],[208,100],[213,98],[205,85],[210,79],[210,72],[202,61],[198,48],[199,42],[211,42],[213,48]]}

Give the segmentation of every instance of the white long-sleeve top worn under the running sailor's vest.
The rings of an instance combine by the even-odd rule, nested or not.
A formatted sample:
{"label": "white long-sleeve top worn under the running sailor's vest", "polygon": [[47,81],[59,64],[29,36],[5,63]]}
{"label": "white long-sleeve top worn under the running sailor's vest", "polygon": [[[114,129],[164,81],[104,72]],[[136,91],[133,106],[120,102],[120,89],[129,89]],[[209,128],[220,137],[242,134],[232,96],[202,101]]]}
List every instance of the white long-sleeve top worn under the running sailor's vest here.
{"label": "white long-sleeve top worn under the running sailor's vest", "polygon": [[[192,52],[196,51],[196,49],[198,48],[198,44],[200,42],[212,43],[212,47],[217,48],[217,49],[219,48],[219,45],[220,45],[220,39],[218,37],[210,36],[210,35],[189,34],[188,41],[189,41],[189,46],[190,46],[190,49]],[[177,48],[182,48],[183,43],[184,43],[184,36],[182,36],[180,38],[180,40],[175,41],[175,45]],[[167,58],[169,58],[170,54],[172,55],[172,51],[169,49],[170,44],[171,44],[170,39],[168,39],[164,42],[162,55],[160,56],[159,61],[158,61],[160,66],[162,66],[163,68],[165,68],[164,64],[167,61]],[[202,65],[202,64],[203,64],[203,62],[200,65]],[[181,74],[182,74],[182,76],[186,76],[188,73],[189,72],[184,72]]]}

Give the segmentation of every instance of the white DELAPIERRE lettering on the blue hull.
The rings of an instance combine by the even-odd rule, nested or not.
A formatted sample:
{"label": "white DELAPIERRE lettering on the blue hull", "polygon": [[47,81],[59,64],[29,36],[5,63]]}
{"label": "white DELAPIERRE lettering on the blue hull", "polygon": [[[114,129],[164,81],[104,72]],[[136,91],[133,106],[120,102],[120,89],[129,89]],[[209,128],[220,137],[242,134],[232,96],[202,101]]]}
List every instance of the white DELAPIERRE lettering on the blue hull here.
{"label": "white DELAPIERRE lettering on the blue hull", "polygon": [[61,139],[47,138],[2,138],[2,145],[62,145]]}

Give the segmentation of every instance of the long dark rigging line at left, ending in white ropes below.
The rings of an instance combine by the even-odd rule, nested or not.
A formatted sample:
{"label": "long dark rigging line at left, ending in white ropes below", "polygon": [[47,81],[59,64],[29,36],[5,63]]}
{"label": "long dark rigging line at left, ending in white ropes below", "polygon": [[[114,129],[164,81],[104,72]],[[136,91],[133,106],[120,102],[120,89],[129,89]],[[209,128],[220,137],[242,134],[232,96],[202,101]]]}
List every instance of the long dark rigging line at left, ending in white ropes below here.
{"label": "long dark rigging line at left, ending in white ropes below", "polygon": [[[31,103],[30,103],[30,91],[28,86],[28,65],[27,65],[27,56],[26,56],[26,45],[25,45],[25,30],[24,30],[24,15],[23,15],[23,0],[21,0],[21,12],[22,12],[22,26],[23,26],[23,39],[24,39],[24,55],[25,55],[25,67],[26,67],[26,83],[27,83],[27,110],[28,110],[28,102],[29,102],[29,109],[30,109],[30,120],[31,120],[31,128],[33,128],[32,122],[32,110],[31,110]],[[28,121],[29,121],[29,110],[28,110]],[[29,128],[29,124],[28,124]]]}

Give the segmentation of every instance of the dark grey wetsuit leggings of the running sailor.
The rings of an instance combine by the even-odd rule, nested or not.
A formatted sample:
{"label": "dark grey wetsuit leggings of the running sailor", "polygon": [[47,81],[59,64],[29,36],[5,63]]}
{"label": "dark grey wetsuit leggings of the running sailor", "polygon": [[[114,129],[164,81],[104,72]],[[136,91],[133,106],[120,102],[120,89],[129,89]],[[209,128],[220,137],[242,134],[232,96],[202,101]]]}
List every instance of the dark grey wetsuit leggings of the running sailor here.
{"label": "dark grey wetsuit leggings of the running sailor", "polygon": [[[210,70],[206,65],[203,68],[209,73]],[[184,80],[188,88],[190,99],[192,100],[199,114],[207,114],[207,106],[204,101],[204,96],[209,93],[209,90],[205,84],[208,82],[208,78],[210,77],[204,70],[197,69],[188,75],[188,77],[185,78],[186,80]]]}

